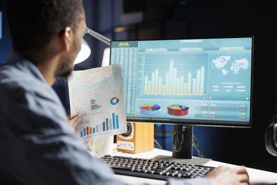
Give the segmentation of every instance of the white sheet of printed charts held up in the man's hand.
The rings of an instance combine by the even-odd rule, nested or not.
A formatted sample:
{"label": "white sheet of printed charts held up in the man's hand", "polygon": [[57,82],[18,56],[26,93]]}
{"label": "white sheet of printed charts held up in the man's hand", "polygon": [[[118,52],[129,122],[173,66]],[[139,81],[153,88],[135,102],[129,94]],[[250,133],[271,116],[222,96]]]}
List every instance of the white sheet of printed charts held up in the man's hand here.
{"label": "white sheet of printed charts held up in the man's hand", "polygon": [[69,78],[71,115],[83,141],[127,132],[120,64],[73,71]]}

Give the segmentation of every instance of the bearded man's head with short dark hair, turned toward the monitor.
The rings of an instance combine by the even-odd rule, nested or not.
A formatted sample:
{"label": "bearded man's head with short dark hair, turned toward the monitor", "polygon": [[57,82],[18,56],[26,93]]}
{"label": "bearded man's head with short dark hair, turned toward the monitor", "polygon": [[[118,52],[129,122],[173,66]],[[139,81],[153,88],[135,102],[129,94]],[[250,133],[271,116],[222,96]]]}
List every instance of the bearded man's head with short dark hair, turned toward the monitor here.
{"label": "bearded man's head with short dark hair, turned toward the monitor", "polygon": [[36,53],[54,39],[60,39],[65,50],[55,76],[66,78],[82,42],[85,27],[82,0],[9,0],[7,8],[14,50]]}

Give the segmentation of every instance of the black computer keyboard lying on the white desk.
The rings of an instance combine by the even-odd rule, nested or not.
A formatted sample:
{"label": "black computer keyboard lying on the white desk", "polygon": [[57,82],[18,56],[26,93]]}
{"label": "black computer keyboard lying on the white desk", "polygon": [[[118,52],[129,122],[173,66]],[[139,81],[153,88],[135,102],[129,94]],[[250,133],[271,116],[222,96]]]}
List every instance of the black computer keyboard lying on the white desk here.
{"label": "black computer keyboard lying on the white desk", "polygon": [[123,156],[105,155],[101,157],[118,175],[130,175],[150,179],[166,180],[174,178],[203,177],[214,167],[195,164],[179,163],[175,161],[156,161]]}

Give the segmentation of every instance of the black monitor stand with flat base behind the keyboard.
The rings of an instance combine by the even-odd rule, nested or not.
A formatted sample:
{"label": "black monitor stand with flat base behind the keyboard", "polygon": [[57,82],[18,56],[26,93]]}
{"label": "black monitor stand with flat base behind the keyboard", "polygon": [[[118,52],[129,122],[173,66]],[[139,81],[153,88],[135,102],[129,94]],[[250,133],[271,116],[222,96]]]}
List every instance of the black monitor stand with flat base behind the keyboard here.
{"label": "black monitor stand with flat base behind the keyboard", "polygon": [[158,155],[154,160],[204,165],[211,159],[193,157],[193,126],[173,125],[172,156]]}

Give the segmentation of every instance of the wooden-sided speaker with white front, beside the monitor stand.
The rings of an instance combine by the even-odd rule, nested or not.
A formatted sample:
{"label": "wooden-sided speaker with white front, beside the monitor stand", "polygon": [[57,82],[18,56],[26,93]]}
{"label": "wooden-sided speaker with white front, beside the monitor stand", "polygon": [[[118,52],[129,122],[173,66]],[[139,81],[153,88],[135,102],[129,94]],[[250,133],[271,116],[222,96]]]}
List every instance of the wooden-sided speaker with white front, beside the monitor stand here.
{"label": "wooden-sided speaker with white front, beside the monitor stand", "polygon": [[127,132],[116,136],[116,149],[132,154],[153,150],[154,124],[127,122]]}

